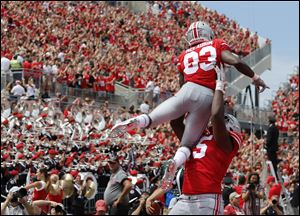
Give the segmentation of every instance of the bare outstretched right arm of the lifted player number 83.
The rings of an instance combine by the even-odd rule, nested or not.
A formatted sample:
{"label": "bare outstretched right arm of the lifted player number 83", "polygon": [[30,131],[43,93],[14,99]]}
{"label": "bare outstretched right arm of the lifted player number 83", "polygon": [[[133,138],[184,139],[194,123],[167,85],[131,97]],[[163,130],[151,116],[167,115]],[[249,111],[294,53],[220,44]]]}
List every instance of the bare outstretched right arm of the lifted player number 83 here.
{"label": "bare outstretched right arm of the lifted player number 83", "polygon": [[[260,90],[259,92],[263,92],[266,88],[269,88],[245,62],[243,62],[239,57],[233,55],[230,51],[222,51],[221,59],[226,64],[233,65],[242,74],[250,77],[253,80],[253,84],[256,86],[256,88]],[[260,89],[260,87],[262,87],[262,89]]]}

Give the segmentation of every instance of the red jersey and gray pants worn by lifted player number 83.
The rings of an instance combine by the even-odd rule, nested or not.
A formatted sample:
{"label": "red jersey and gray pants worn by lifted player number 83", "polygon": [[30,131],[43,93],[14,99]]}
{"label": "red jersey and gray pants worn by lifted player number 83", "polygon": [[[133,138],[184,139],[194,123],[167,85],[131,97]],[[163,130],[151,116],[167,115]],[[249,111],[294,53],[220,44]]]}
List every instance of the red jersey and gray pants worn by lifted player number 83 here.
{"label": "red jersey and gray pants worn by lifted player number 83", "polygon": [[216,65],[220,66],[223,50],[230,51],[230,48],[223,40],[214,39],[181,53],[177,66],[186,83],[175,96],[161,103],[149,114],[151,127],[189,113],[185,120],[181,145],[192,148],[197,143],[211,116],[216,86],[214,68]]}

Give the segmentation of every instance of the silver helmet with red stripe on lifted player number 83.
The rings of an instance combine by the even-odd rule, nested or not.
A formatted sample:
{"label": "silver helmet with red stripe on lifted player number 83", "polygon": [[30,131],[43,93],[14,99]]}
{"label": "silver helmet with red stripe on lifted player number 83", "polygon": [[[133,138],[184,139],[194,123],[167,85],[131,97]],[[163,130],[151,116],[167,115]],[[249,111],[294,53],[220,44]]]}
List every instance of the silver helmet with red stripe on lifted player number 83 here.
{"label": "silver helmet with red stripe on lifted player number 83", "polygon": [[204,41],[211,41],[214,33],[210,26],[202,21],[193,22],[186,32],[186,40],[190,46]]}

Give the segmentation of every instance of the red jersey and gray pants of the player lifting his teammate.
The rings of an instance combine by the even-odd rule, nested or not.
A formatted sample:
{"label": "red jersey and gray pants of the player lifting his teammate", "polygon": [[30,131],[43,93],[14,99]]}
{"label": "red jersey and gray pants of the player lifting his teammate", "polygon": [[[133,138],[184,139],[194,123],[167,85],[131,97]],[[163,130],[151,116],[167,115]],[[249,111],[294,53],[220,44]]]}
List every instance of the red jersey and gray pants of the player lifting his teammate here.
{"label": "red jersey and gray pants of the player lifting his teammate", "polygon": [[234,148],[231,153],[221,150],[212,131],[205,131],[193,158],[185,163],[182,195],[170,215],[222,215],[224,211],[221,182],[242,143],[241,136],[230,131]]}

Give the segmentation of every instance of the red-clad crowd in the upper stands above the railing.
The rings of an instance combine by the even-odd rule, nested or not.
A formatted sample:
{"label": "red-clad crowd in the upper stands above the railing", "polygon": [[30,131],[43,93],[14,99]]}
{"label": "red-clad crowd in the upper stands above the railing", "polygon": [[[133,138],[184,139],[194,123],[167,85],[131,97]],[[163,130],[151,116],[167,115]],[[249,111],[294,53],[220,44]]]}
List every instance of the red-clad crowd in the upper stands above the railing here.
{"label": "red-clad crowd in the upper stands above the railing", "polygon": [[152,89],[154,82],[161,92],[174,93],[176,56],[193,21],[207,21],[240,56],[258,48],[257,33],[200,4],[147,4],[140,15],[105,2],[2,2],[1,58],[12,70],[25,68],[26,81],[52,74],[49,82],[100,94],[114,93],[116,81]]}

